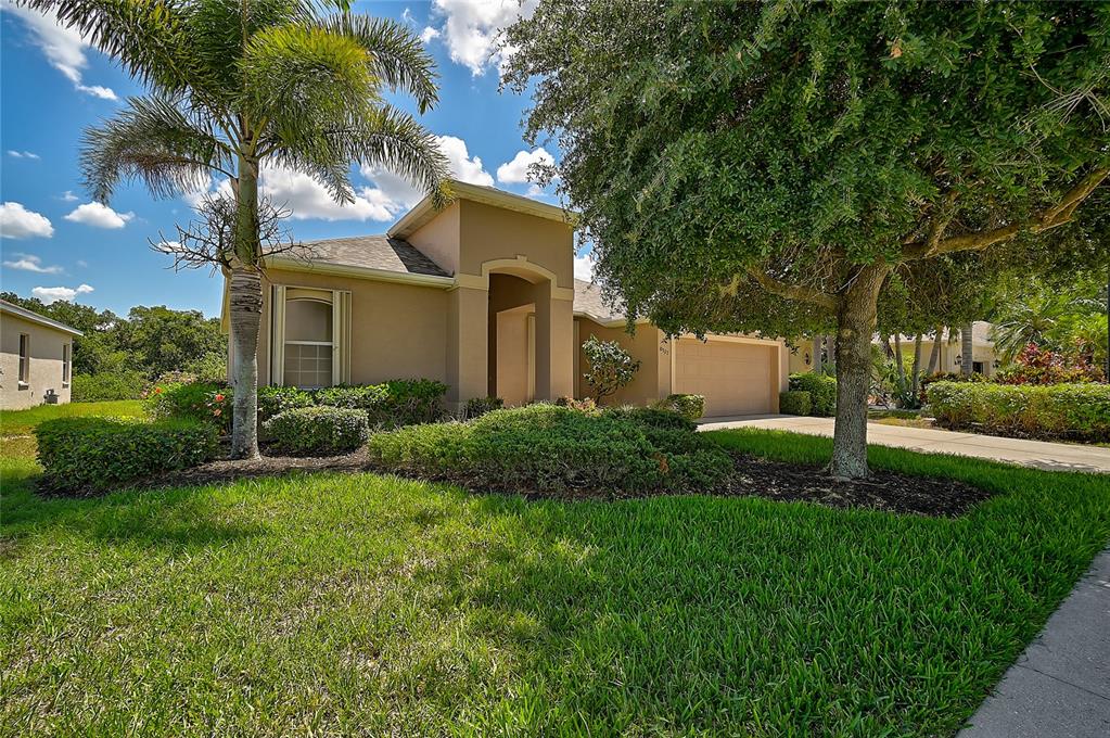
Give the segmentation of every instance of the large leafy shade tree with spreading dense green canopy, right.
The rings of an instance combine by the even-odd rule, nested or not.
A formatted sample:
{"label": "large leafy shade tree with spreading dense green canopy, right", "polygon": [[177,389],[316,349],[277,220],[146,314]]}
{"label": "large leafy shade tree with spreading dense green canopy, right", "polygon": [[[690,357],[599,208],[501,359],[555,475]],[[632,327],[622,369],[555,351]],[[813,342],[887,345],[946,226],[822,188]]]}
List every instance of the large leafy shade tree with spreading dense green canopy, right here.
{"label": "large leafy shade tree with spreading dense green canopy, right", "polygon": [[892,276],[1106,260],[1110,4],[551,0],[504,46],[630,319],[835,326],[838,476]]}

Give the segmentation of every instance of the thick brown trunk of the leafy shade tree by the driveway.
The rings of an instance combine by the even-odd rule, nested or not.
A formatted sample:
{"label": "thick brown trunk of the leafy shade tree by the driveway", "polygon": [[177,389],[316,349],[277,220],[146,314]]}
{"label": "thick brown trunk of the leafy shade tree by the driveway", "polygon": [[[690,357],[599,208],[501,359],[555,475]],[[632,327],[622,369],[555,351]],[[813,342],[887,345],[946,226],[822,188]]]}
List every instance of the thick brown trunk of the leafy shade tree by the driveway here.
{"label": "thick brown trunk of the leafy shade tree by the driveway", "polygon": [[871,335],[876,303],[887,264],[860,270],[840,300],[836,338],[836,429],[833,436],[833,476],[867,476],[867,393],[871,380]]}

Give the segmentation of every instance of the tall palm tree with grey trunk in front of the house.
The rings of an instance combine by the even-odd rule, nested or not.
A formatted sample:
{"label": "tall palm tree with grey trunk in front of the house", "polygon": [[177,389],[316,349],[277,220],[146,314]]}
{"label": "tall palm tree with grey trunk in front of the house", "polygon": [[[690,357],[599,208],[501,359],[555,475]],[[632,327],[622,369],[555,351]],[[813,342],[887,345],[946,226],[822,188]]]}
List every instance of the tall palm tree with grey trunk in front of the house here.
{"label": "tall palm tree with grey trunk in front of the house", "polygon": [[432,135],[386,103],[437,101],[434,62],[403,26],[303,0],[18,0],[59,21],[149,88],[88,129],[82,170],[107,202],[121,181],[155,196],[226,176],[235,198],[230,270],[232,456],[258,455],[258,341],[262,312],[259,175],[265,162],[303,172],[341,202],[352,162],[384,166],[451,199]]}

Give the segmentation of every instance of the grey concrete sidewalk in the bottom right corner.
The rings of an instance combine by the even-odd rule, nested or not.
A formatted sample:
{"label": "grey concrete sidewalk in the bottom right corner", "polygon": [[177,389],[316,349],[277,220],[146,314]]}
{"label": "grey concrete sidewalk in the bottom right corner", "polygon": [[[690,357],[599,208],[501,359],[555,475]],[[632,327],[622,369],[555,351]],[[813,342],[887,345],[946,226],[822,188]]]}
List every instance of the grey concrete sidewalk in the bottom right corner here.
{"label": "grey concrete sidewalk in the bottom right corner", "polygon": [[1110,736],[1110,548],[958,738]]}

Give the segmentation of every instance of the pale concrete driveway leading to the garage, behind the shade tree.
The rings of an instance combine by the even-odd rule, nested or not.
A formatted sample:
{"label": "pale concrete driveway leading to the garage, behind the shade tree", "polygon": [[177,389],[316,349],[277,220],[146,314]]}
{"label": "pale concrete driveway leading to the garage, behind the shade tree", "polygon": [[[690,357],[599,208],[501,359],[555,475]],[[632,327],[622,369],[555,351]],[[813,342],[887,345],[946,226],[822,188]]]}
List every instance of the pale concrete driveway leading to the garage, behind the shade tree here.
{"label": "pale concrete driveway leading to the garage, behind the shade tree", "polygon": [[[767,428],[791,431],[815,436],[833,436],[831,417],[798,417],[795,415],[746,415],[709,417],[700,429]],[[996,462],[1035,466],[1052,472],[1090,472],[1110,474],[1110,448],[1078,444],[1046,443],[953,433],[934,428],[910,428],[900,425],[867,424],[867,442],[879,446],[909,448],[932,454],[957,454],[989,458]]]}

